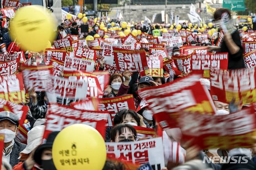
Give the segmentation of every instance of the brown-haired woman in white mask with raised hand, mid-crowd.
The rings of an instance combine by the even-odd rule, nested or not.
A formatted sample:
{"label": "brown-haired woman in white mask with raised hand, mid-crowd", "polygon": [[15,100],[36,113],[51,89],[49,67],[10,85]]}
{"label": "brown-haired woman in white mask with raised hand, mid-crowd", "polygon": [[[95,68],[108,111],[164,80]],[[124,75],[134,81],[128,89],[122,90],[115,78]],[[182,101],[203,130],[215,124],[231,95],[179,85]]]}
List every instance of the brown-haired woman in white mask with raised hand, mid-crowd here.
{"label": "brown-haired woman in white mask with raised hand, mid-crowd", "polygon": [[127,94],[131,75],[132,73],[128,69],[124,70],[123,76],[119,73],[111,75],[109,86],[104,91],[104,97],[112,98]]}

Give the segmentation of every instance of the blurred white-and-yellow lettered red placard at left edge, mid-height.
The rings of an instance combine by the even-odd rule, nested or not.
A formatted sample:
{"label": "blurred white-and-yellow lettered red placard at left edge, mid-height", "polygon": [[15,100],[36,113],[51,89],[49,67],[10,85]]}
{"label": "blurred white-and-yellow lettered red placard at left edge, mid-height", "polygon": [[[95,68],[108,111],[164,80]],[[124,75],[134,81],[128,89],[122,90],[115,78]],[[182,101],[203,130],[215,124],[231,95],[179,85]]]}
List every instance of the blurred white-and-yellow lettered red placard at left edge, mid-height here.
{"label": "blurred white-and-yellow lettered red placard at left edge, mid-height", "polygon": [[0,98],[14,103],[25,102],[22,73],[0,77]]}

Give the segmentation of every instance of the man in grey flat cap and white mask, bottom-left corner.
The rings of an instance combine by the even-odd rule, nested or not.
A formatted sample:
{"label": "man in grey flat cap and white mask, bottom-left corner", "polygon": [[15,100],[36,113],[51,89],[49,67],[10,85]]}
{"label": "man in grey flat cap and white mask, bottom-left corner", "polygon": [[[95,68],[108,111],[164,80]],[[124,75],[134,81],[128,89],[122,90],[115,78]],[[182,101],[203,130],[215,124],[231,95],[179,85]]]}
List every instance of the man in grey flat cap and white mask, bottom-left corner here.
{"label": "man in grey flat cap and white mask, bottom-left corner", "polygon": [[19,117],[10,111],[0,112],[0,134],[4,134],[3,158],[12,167],[19,163],[19,153],[26,145],[14,140],[19,131]]}

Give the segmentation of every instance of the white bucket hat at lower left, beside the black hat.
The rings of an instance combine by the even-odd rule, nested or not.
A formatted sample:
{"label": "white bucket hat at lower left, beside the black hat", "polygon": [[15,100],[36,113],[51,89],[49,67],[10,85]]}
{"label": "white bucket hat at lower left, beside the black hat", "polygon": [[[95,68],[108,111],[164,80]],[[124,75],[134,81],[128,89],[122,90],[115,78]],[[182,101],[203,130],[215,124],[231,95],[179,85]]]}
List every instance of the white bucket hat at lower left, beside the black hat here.
{"label": "white bucket hat at lower left, beside the black hat", "polygon": [[38,125],[28,131],[27,146],[23,151],[21,151],[18,159],[20,159],[24,154],[30,154],[37,146],[42,143],[44,128],[45,125]]}

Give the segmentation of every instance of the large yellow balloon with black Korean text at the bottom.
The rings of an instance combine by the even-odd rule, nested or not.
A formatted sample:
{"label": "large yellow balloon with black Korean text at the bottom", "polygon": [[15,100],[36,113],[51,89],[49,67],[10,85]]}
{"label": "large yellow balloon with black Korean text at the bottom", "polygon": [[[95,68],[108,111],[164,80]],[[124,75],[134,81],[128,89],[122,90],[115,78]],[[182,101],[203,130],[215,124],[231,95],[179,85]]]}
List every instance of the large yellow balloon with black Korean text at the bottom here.
{"label": "large yellow balloon with black Korean text at the bottom", "polygon": [[[61,154],[69,151],[68,156]],[[93,127],[84,124],[70,125],[56,136],[53,142],[53,163],[58,170],[102,170],[107,151],[104,139]],[[65,163],[61,160],[78,160],[82,163]]]}

